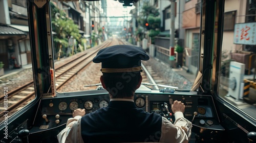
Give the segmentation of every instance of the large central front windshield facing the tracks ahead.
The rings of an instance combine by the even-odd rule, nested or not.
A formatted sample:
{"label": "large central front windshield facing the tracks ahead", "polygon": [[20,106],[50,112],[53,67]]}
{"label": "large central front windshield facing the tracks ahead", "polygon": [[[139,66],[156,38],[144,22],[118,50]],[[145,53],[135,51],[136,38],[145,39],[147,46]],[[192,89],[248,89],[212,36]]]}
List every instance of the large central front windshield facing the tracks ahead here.
{"label": "large central front windshield facing the tracks ahead", "polygon": [[[173,11],[175,20],[171,21],[168,1],[138,1],[131,6],[123,5],[118,1],[51,3],[57,92],[98,89],[101,64],[93,63],[92,58],[99,49],[115,44],[137,45],[150,55],[150,60],[142,61],[142,85],[152,89],[173,89],[154,86],[160,84],[190,90],[198,70],[200,22],[195,20],[200,20],[200,12],[194,13],[196,19],[187,19],[179,12],[186,12],[185,3],[177,2]],[[187,20],[195,24],[193,34],[188,33],[189,38],[185,36],[186,27],[190,27]],[[172,23],[173,37],[170,36]],[[75,76],[62,84],[66,80],[61,78],[65,75],[60,76],[64,68],[62,64],[69,68],[73,64],[67,64],[67,61],[77,57],[76,63],[80,64],[75,68],[79,71],[72,71]]]}

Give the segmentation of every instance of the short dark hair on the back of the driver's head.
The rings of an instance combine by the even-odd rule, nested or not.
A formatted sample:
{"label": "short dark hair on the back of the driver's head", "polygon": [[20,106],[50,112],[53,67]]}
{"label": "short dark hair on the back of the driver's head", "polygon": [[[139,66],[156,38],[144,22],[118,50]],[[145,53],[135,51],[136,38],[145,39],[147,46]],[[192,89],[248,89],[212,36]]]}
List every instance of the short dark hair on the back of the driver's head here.
{"label": "short dark hair on the back of the driver's head", "polygon": [[122,74],[104,73],[102,76],[106,90],[109,91],[112,98],[134,96],[140,77],[140,72],[127,72]]}

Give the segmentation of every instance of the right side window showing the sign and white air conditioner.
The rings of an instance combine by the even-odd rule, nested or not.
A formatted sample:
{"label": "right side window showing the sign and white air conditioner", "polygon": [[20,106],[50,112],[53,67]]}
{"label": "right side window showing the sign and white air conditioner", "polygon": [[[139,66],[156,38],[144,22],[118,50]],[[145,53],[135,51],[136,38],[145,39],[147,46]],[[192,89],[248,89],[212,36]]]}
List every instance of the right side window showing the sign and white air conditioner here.
{"label": "right side window showing the sign and white air conditioner", "polygon": [[[256,1],[225,1],[219,96],[256,119]],[[251,12],[254,12],[254,15]]]}

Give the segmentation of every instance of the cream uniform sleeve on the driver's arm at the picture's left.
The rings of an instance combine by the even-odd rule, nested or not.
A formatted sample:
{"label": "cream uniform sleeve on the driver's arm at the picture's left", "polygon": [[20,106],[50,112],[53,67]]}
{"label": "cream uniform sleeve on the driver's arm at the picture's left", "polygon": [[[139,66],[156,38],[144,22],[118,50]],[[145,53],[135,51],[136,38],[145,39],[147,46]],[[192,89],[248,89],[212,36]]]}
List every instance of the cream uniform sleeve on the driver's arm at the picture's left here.
{"label": "cream uniform sleeve on the driver's arm at the picture's left", "polygon": [[81,116],[75,116],[74,118],[69,118],[67,126],[58,135],[59,143],[69,143],[77,142],[83,143],[81,136]]}

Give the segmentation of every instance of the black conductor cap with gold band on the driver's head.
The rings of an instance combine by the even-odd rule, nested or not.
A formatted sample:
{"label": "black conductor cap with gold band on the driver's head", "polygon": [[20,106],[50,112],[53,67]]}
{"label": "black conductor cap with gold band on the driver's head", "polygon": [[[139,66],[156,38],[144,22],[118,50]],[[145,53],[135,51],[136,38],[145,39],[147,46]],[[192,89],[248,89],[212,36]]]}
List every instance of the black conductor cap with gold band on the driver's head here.
{"label": "black conductor cap with gold band on the driver's head", "polygon": [[125,73],[141,70],[141,60],[150,57],[139,46],[113,45],[101,49],[94,57],[94,63],[101,62],[102,73]]}

